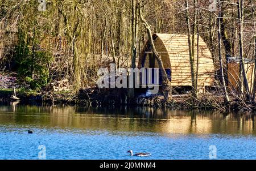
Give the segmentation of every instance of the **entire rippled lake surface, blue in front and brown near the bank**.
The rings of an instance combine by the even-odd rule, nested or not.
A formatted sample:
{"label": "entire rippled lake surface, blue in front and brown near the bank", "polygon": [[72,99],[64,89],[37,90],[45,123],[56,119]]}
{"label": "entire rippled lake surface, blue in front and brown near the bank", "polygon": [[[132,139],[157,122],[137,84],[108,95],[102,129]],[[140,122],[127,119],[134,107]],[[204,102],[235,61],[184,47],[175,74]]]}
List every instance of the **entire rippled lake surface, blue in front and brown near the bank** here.
{"label": "entire rippled lake surface, blue in front and brown near the bank", "polygon": [[[131,157],[129,149],[151,156]],[[253,114],[0,105],[0,159],[216,157],[256,159]]]}

